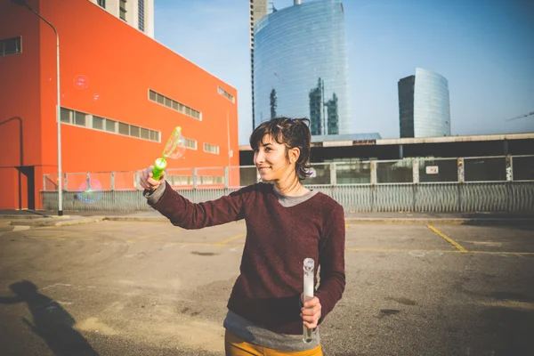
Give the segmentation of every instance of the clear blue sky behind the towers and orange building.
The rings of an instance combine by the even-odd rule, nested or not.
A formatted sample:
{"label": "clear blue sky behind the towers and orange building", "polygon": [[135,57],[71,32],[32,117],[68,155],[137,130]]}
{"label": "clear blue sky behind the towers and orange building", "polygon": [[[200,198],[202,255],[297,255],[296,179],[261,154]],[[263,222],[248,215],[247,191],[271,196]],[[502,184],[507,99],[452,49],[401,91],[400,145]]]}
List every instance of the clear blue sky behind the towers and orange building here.
{"label": "clear blue sky behind the towers and orange building", "polygon": [[[449,80],[452,134],[534,132],[534,115],[506,121],[534,111],[534,1],[343,3],[358,133],[399,137],[397,82],[417,67]],[[238,89],[239,144],[252,131],[248,4],[155,0],[156,40]]]}

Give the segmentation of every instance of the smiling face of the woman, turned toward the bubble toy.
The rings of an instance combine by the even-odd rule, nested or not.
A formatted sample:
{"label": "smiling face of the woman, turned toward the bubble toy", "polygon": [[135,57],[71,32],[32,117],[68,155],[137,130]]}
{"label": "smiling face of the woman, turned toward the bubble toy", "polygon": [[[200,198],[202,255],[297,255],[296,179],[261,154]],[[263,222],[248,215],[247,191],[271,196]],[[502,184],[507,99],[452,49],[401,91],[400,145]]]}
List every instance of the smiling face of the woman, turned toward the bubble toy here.
{"label": "smiling face of the woman, turned toward the bubble toy", "polygon": [[[260,142],[254,153],[254,164],[262,181],[285,181],[291,177],[291,174],[295,174],[296,159],[292,157],[294,152],[290,150],[290,159],[287,159],[286,151],[286,146],[272,140],[270,134],[263,137],[263,142]],[[298,158],[298,153],[296,158]]]}

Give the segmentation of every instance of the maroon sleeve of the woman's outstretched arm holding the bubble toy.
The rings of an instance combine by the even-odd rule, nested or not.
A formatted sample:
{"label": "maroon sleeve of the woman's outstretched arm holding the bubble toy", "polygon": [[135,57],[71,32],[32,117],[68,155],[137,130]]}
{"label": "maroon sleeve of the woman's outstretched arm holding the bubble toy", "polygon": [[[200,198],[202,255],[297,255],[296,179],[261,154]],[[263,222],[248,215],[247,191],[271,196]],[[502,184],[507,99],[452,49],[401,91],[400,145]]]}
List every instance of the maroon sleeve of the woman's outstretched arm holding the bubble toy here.
{"label": "maroon sleeve of the woman's outstretched arm holding the bubble toy", "polygon": [[254,185],[251,185],[222,198],[204,203],[192,203],[166,183],[161,198],[157,202],[149,199],[148,203],[175,226],[188,230],[202,229],[243,219],[244,202],[253,191]]}

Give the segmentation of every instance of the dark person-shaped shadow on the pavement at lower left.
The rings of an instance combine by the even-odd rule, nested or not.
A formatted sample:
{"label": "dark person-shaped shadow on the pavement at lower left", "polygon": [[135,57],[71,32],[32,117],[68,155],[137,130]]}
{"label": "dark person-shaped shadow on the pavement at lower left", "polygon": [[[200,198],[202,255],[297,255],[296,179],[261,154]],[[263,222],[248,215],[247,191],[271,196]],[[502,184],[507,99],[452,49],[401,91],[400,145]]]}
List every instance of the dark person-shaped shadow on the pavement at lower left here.
{"label": "dark person-shaped shadow on the pavement at lower left", "polygon": [[76,320],[60,303],[39,293],[28,280],[10,286],[14,296],[0,296],[0,304],[27,303],[33,320],[23,318],[36,335],[43,338],[56,356],[98,356],[91,344],[74,327]]}

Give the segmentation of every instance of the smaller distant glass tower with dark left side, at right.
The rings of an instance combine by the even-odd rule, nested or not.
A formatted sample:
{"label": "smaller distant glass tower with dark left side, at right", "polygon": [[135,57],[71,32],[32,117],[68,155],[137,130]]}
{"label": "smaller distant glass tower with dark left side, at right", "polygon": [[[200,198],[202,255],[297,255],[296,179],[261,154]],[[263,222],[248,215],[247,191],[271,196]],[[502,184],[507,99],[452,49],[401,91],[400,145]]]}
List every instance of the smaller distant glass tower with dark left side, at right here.
{"label": "smaller distant glass tower with dark left side, at right", "polygon": [[450,136],[449,82],[438,73],[416,69],[399,80],[401,137]]}

